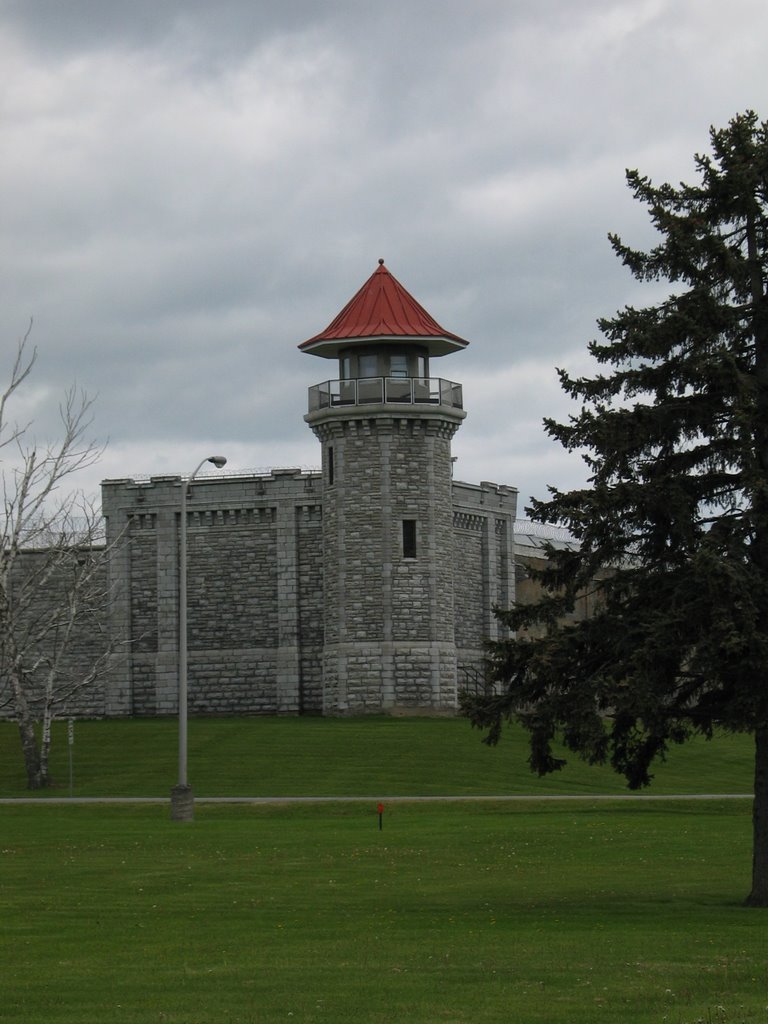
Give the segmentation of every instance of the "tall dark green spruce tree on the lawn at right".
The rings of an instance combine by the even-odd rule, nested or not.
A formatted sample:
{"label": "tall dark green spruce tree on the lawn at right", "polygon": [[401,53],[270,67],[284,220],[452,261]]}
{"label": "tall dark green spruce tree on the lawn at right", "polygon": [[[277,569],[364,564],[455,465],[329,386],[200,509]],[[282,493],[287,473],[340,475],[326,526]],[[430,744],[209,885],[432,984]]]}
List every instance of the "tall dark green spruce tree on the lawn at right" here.
{"label": "tall dark green spruce tree on the lawn at right", "polygon": [[[610,236],[640,281],[671,294],[599,322],[592,378],[559,371],[580,412],[547,431],[581,453],[589,486],[528,510],[565,526],[547,546],[538,603],[502,612],[498,695],[466,698],[498,741],[530,733],[530,765],[560,768],[552,741],[609,762],[632,788],[671,743],[716,729],[755,737],[753,885],[768,905],[768,122],[711,131],[696,185],[628,183],[658,244]],[[569,616],[591,592],[596,611]]]}

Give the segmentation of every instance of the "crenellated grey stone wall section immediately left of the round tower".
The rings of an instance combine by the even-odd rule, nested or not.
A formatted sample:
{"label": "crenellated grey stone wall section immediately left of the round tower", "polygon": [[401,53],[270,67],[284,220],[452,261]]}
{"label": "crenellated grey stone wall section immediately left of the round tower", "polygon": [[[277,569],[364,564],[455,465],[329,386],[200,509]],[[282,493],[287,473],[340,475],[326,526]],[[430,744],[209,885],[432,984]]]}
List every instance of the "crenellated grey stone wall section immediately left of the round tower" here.
{"label": "crenellated grey stone wall section immediately left of the round tower", "polygon": [[[190,714],[317,710],[318,483],[299,470],[191,482]],[[113,667],[108,713],[173,714],[181,480],[108,480],[102,495],[118,590],[111,626],[130,647]]]}

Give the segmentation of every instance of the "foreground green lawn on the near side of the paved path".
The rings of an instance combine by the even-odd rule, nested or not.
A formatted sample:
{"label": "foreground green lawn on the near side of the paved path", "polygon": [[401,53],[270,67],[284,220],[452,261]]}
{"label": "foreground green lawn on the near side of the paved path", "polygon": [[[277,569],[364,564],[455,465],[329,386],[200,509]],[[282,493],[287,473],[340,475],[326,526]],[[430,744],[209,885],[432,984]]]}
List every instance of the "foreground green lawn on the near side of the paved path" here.
{"label": "foreground green lawn on the near side of the paved path", "polygon": [[768,1019],[746,801],[396,804],[383,831],[365,804],[0,823],[1,1021]]}

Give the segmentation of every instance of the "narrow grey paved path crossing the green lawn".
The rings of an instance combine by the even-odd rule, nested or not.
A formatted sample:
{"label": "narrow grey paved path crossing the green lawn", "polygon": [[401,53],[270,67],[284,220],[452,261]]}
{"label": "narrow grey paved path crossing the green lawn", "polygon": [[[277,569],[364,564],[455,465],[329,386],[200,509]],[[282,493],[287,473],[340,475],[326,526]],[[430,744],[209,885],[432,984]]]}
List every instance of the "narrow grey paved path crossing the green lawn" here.
{"label": "narrow grey paved path crossing the green lawn", "polygon": [[[751,793],[676,794],[520,794],[504,797],[196,797],[196,804],[416,804],[416,803],[512,803],[514,801],[641,801],[648,800],[752,800]],[[169,797],[1,797],[5,804],[169,804]]]}

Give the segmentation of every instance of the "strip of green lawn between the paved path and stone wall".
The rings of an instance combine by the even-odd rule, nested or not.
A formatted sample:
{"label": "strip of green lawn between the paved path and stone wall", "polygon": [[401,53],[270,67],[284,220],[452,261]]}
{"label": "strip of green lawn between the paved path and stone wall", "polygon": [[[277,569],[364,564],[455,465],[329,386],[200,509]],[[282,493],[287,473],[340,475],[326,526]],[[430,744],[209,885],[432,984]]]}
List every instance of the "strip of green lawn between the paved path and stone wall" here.
{"label": "strip of green lawn between the paved path and stone wall", "polygon": [[[76,796],[165,796],[176,780],[173,719],[78,722]],[[189,722],[189,780],[198,796],[508,796],[626,793],[607,768],[570,757],[546,778],[531,775],[521,729],[496,750],[465,719],[240,718]],[[55,723],[54,787],[69,794],[67,726]],[[674,749],[651,794],[750,793],[753,743],[720,736]],[[18,736],[0,722],[0,797],[24,796]]]}

